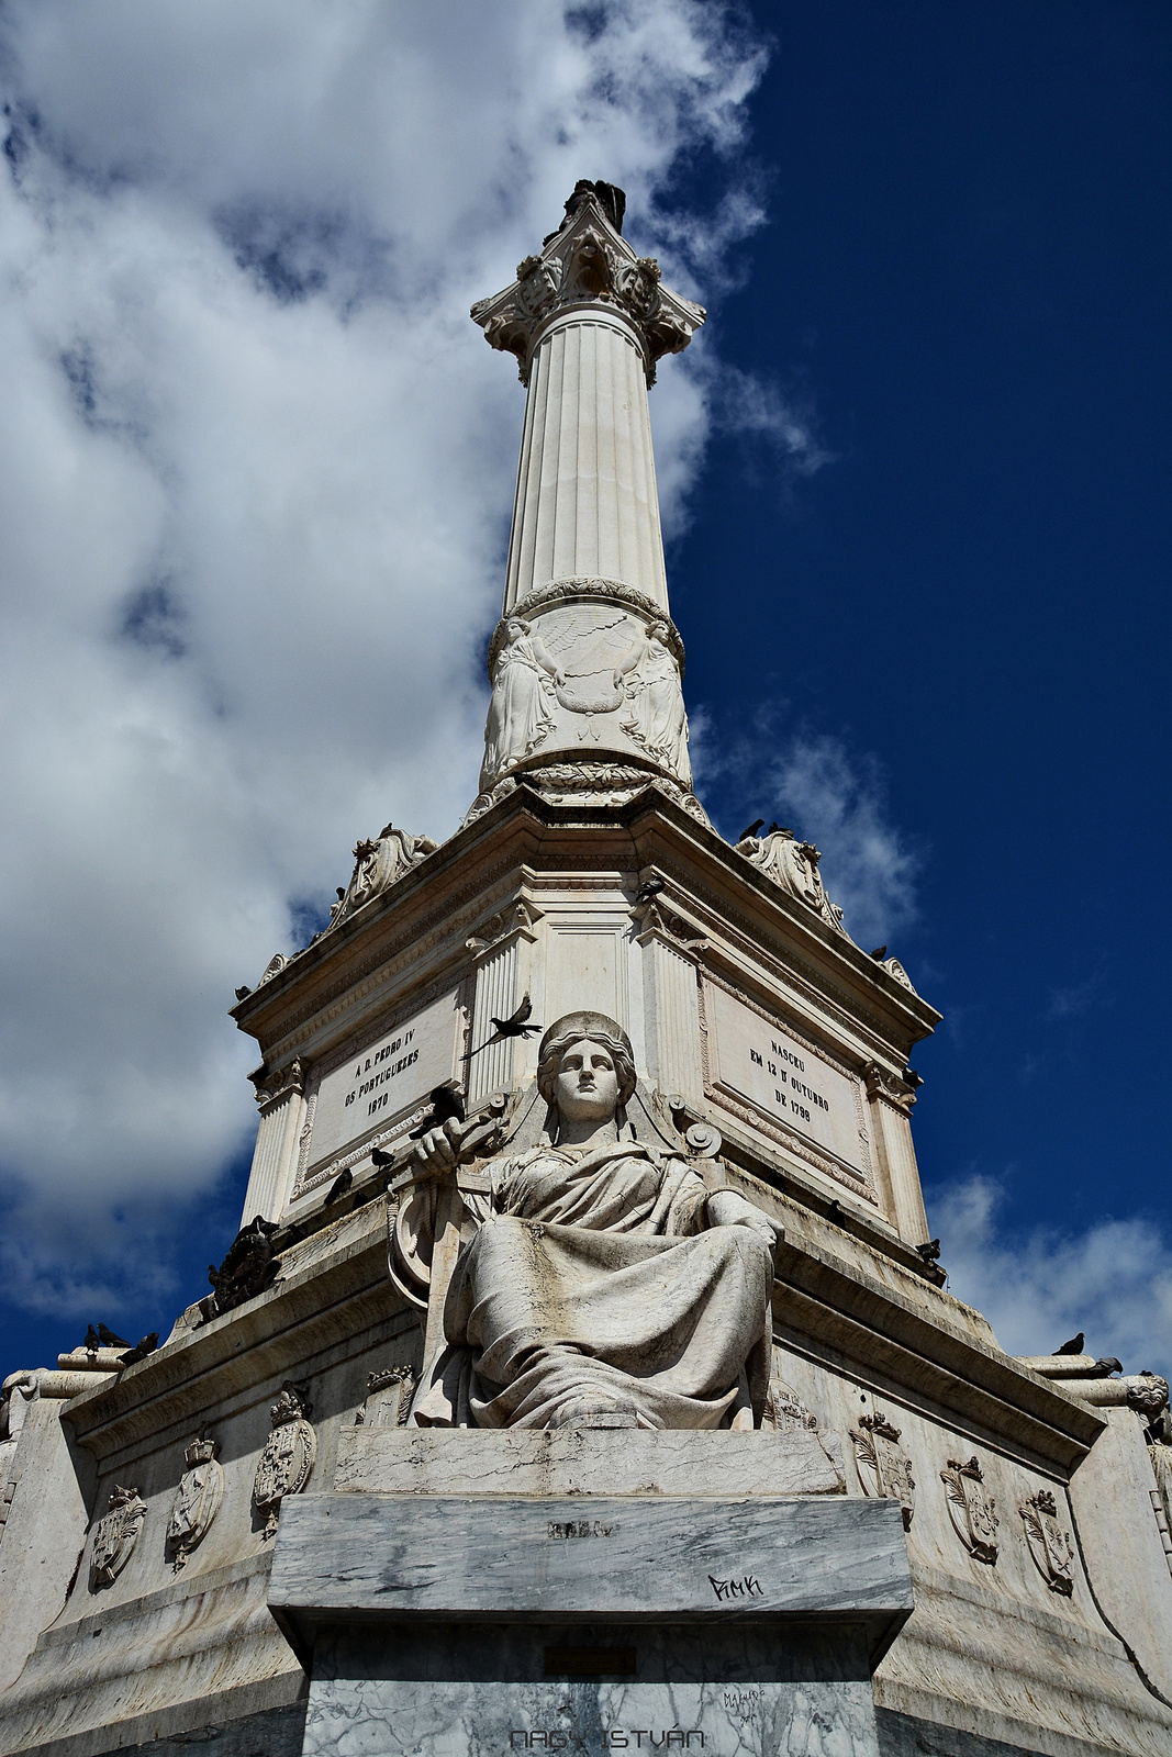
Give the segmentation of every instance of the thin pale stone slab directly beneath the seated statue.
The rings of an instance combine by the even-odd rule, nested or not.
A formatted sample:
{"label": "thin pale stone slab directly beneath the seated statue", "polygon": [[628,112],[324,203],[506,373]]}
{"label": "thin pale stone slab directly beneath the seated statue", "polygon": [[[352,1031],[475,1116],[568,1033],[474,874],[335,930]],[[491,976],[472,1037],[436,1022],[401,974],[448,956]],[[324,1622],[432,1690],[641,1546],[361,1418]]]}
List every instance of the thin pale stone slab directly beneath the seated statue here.
{"label": "thin pale stone slab directly beneath the seated statue", "polygon": [[343,1428],[334,1488],[392,1495],[842,1495],[833,1437]]}

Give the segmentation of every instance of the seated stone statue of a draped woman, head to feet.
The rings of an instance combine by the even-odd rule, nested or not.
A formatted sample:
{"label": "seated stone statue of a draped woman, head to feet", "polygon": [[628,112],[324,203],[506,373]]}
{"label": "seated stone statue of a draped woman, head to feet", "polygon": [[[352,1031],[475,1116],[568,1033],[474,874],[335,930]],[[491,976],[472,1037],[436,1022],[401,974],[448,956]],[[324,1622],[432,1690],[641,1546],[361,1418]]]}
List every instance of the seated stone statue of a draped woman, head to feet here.
{"label": "seated stone statue of a draped woman, head to feet", "polygon": [[[759,1425],[778,1228],[736,1191],[708,1189],[682,1154],[634,1139],[634,1061],[613,1019],[576,1012],[550,1026],[538,1093],[536,1142],[515,1139],[460,1184],[443,1344],[409,1421]],[[416,1304],[464,1133],[448,1121],[418,1142],[418,1181],[394,1223],[392,1274]]]}

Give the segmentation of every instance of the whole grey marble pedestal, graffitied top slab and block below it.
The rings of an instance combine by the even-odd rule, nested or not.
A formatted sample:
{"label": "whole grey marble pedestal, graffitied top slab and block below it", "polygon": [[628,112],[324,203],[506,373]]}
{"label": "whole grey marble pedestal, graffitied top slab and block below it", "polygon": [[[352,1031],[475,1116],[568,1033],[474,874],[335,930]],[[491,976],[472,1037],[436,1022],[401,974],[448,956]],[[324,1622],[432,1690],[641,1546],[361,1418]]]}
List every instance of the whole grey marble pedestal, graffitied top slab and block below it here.
{"label": "whole grey marble pedestal, graffitied top slab and block below it", "polygon": [[912,1587],[891,1500],[334,1493],[286,1502],[269,1604],[307,1757],[875,1757]]}

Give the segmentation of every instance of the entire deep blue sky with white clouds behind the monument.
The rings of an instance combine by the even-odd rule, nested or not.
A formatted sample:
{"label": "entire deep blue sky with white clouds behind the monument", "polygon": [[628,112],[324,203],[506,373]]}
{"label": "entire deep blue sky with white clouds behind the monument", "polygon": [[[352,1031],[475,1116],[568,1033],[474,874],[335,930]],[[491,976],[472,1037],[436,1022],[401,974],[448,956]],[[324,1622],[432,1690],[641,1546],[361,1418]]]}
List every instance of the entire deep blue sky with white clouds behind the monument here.
{"label": "entire deep blue sky with white clouds behind the monument", "polygon": [[4,1370],[204,1291],[232,986],[474,792],[522,399],[464,313],[576,176],[710,309],[654,394],[701,796],[945,1014],[954,1291],[1167,1369],[1167,9],[323,18],[7,18]]}

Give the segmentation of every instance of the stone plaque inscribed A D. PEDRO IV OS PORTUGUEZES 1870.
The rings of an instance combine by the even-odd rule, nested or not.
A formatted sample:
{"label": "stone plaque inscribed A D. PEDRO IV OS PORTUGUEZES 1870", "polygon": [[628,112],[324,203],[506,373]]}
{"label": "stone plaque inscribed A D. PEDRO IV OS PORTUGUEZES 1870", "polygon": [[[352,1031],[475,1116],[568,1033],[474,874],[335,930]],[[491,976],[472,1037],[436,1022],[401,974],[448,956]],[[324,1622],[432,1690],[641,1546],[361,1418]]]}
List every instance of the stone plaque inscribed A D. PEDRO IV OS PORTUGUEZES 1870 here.
{"label": "stone plaque inscribed A D. PEDRO IV OS PORTUGUEZES 1870", "polygon": [[460,1026],[459,996],[441,994],[325,1065],[307,1093],[302,1186],[462,1072]]}

